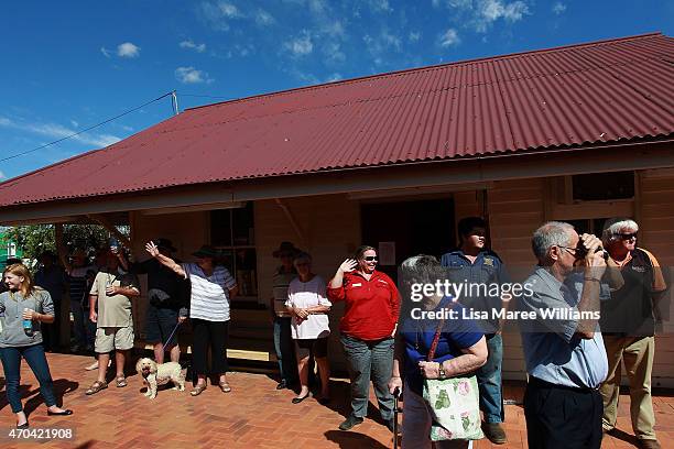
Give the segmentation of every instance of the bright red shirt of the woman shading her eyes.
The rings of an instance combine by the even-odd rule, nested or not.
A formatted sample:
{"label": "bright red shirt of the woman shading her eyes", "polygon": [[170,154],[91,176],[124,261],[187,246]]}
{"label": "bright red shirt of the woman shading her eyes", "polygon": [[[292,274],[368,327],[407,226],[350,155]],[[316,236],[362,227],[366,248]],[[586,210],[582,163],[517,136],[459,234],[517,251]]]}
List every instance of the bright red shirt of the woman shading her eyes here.
{"label": "bright red shirt of the woman shading her eyes", "polygon": [[344,300],[346,313],[339,321],[339,330],[361,340],[381,340],[391,337],[400,313],[400,293],[384,273],[374,271],[370,281],[360,273],[345,273],[341,287],[331,288],[328,299]]}

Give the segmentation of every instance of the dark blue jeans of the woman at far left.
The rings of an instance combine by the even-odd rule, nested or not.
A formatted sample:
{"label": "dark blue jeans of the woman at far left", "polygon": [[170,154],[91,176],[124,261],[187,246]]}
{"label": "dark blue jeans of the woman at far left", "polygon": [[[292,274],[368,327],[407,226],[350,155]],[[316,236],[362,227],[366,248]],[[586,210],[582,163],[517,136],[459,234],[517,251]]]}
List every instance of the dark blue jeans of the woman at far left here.
{"label": "dark blue jeans of the woman at far left", "polygon": [[0,360],[4,369],[4,379],[7,381],[7,399],[12,407],[13,413],[23,410],[21,405],[21,395],[19,394],[19,384],[21,382],[21,358],[24,358],[29,366],[40,382],[40,393],[44,398],[47,407],[56,405],[56,396],[54,396],[54,382],[50,373],[44,357],[44,348],[42,344],[32,344],[19,348],[0,348]]}

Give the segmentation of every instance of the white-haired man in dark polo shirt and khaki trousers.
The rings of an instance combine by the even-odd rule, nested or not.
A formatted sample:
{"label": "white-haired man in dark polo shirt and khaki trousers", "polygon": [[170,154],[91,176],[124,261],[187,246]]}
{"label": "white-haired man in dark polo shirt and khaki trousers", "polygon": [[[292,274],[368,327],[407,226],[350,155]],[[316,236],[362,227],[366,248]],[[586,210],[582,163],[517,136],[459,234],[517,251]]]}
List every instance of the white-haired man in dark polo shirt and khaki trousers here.
{"label": "white-haired man in dark polo shirt and khaki trousers", "polygon": [[621,365],[630,380],[632,429],[643,448],[660,448],[653,426],[651,372],[655,353],[656,302],[666,284],[657,260],[637,248],[639,226],[624,218],[607,220],[602,240],[611,259],[620,267],[624,286],[601,304],[601,331],[608,355],[608,377],[601,385],[604,430],[616,427],[620,396]]}

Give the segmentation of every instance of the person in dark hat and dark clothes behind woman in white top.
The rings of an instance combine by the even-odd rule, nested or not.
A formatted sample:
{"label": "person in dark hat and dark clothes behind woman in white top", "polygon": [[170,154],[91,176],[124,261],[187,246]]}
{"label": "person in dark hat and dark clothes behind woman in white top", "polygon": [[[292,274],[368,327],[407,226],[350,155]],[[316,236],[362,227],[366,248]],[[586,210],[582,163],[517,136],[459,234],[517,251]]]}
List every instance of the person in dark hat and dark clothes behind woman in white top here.
{"label": "person in dark hat and dark clothes behind woman in white top", "polygon": [[281,265],[274,272],[272,284],[272,298],[270,310],[274,322],[274,349],[279,361],[279,374],[281,382],[276,390],[290,388],[297,382],[297,362],[293,337],[291,333],[292,317],[285,308],[287,300],[287,287],[296,276],[297,272],[293,266],[293,258],[300,250],[291,242],[281,242],[281,245],[273,252],[273,256],[281,260]]}

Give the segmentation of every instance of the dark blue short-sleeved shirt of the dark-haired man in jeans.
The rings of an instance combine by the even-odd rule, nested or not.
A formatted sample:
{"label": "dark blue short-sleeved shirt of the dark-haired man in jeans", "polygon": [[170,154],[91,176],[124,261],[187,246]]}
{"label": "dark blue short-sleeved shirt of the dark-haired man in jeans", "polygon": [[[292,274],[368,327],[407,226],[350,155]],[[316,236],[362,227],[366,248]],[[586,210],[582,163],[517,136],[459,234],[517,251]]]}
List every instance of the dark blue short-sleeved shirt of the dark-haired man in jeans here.
{"label": "dark blue short-sleeved shirt of the dark-haired man in jeans", "polygon": [[[478,324],[485,333],[496,333],[499,320],[491,310],[501,308],[502,285],[510,283],[510,276],[498,254],[490,250],[480,251],[475,262],[470,262],[464,251],[457,249],[444,254],[441,264],[448,269],[450,282],[466,285],[459,303],[476,311],[488,311],[490,318],[479,320]],[[475,289],[469,292],[469,285]],[[486,287],[480,291],[477,287],[479,285]]]}

